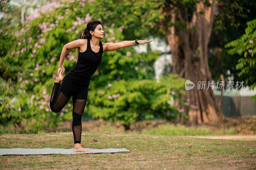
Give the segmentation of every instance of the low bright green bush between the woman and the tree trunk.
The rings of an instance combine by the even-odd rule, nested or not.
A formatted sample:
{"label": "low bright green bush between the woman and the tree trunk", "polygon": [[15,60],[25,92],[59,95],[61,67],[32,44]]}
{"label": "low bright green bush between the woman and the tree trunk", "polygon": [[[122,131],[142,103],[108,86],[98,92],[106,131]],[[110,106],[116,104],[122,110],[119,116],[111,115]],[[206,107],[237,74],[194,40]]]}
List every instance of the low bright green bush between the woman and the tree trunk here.
{"label": "low bright green bush between the woman and the tree trunk", "polygon": [[123,125],[154,117],[173,120],[178,114],[182,115],[174,101],[185,102],[178,97],[185,93],[182,90],[185,80],[177,77],[178,74],[169,74],[161,77],[160,82],[149,79],[112,81],[88,94],[92,102],[89,110],[95,119],[118,120]]}

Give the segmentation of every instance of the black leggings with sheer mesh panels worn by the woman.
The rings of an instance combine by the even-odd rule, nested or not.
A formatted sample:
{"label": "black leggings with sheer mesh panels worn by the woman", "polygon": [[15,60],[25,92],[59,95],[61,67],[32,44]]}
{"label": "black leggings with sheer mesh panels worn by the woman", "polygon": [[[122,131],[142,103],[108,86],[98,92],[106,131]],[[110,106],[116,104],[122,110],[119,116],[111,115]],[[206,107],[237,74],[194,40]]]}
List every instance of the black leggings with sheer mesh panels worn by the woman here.
{"label": "black leggings with sheer mesh panels worn by the woman", "polygon": [[50,99],[50,108],[52,112],[60,112],[72,96],[72,131],[74,136],[74,143],[81,143],[81,120],[87,100],[89,84],[90,82],[81,85],[73,81],[70,81],[66,77],[64,77],[61,84],[54,82],[54,86],[52,89],[52,95]]}

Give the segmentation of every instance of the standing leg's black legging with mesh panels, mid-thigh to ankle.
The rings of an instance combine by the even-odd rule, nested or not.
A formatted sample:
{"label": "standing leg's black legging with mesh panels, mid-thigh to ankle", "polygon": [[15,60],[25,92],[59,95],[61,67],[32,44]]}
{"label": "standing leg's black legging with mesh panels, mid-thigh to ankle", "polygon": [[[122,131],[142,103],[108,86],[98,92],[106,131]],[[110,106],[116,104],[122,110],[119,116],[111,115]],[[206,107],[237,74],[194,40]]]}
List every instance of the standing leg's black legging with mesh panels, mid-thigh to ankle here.
{"label": "standing leg's black legging with mesh panels, mid-thigh to ankle", "polygon": [[74,143],[81,143],[82,134],[82,115],[84,112],[86,99],[73,99],[73,121],[72,130],[74,135]]}

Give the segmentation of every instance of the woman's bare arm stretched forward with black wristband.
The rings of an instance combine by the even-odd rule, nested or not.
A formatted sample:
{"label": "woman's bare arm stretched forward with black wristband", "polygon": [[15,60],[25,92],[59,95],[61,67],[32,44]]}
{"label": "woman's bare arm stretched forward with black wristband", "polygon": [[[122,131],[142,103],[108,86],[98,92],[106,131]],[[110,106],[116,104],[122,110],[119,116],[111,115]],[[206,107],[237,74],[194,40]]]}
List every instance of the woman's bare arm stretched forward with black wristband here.
{"label": "woman's bare arm stretched forward with black wristband", "polygon": [[[147,40],[137,40],[137,43],[139,44],[145,44],[145,43],[150,43],[153,40],[147,41]],[[115,51],[115,50],[119,50],[121,48],[124,47],[130,47],[132,45],[136,45],[135,40],[132,41],[122,41],[122,42],[118,42],[118,43],[104,43],[104,46],[106,46],[106,49],[104,52],[106,51]]]}

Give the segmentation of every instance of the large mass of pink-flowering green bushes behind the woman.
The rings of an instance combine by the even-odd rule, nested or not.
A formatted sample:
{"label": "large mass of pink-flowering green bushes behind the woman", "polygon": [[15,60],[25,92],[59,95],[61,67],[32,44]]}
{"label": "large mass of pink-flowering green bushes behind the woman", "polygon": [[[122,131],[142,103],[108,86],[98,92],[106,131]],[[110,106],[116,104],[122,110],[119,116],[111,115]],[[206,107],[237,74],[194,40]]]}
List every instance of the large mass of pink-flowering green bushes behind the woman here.
{"label": "large mass of pink-flowering green bushes behind the woman", "polygon": [[[24,130],[36,132],[44,127],[56,127],[57,123],[63,120],[72,119],[72,98],[59,113],[53,113],[49,108],[50,95],[63,46],[78,39],[86,23],[94,19],[102,20],[105,35],[108,33],[101,39],[104,43],[127,40],[124,34],[129,31],[132,31],[132,36],[139,36],[149,29],[141,29],[141,24],[134,25],[140,23],[140,12],[144,12],[143,17],[147,19],[145,23],[148,23],[149,19],[157,21],[161,18],[157,10],[152,11],[150,17],[146,15],[147,12],[140,10],[141,6],[143,9],[150,5],[155,8],[159,3],[161,4],[161,1],[158,4],[154,4],[155,1],[143,2],[146,4],[136,1],[134,3],[137,4],[134,5],[126,1],[126,6],[118,5],[116,8],[117,4],[113,4],[112,1],[104,3],[98,0],[93,3],[65,1],[54,10],[41,12],[40,16],[35,18],[30,17],[24,27],[18,26],[12,29],[3,27],[0,33],[2,37],[0,49],[3,50],[0,60],[0,74],[3,78],[0,89],[3,91],[0,122],[12,123]],[[84,3],[83,7],[81,7],[82,3]],[[134,11],[137,13],[134,14]],[[126,17],[123,18],[118,12],[122,12]],[[114,25],[113,22],[115,22]],[[148,26],[153,26],[150,23]],[[182,93],[180,86],[184,83],[181,83],[183,82],[181,79],[178,79],[179,81],[171,79],[165,85],[163,82],[157,84],[153,81],[153,64],[159,54],[160,51],[137,54],[131,47],[104,53],[102,63],[92,76],[84,115],[93,114],[94,118],[119,120],[123,124],[153,116],[174,119],[178,111],[174,106],[166,104],[166,101],[170,100],[170,95],[165,94],[170,86],[167,84],[172,81],[174,84],[180,83],[177,85],[179,87],[172,87],[172,89],[169,87],[169,90]],[[69,50],[63,63],[66,73],[76,63],[74,56],[76,56],[76,49]],[[112,83],[116,89],[104,91],[107,90],[109,83]],[[120,89],[122,85],[123,89]],[[142,88],[154,93],[150,95]],[[107,96],[99,97],[100,90],[103,90]],[[115,93],[120,93],[120,97],[113,101],[107,98]],[[120,101],[120,98],[123,101]]]}

